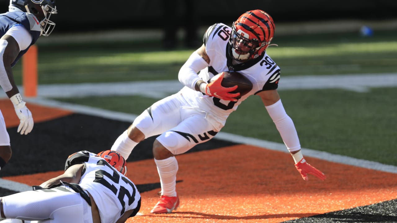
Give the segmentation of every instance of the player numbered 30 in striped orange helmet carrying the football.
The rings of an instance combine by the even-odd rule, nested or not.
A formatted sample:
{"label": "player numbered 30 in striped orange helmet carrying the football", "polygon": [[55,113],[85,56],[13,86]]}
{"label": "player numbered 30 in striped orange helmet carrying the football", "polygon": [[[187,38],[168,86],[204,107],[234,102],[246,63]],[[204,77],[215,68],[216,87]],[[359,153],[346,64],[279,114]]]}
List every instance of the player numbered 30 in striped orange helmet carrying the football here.
{"label": "player numbered 30 in striped orange helmet carrying the football", "polygon": [[[116,139],[112,150],[128,158],[139,142],[160,134],[154,141],[153,155],[162,189],[152,213],[170,213],[179,206],[175,155],[213,138],[230,113],[251,95],[262,99],[303,179],[308,180],[308,173],[326,179],[303,158],[295,125],[277,92],[280,68],[266,54],[274,30],[272,17],[262,10],[245,12],[231,27],[223,23],[209,27],[203,37],[204,44],[179,71],[179,81],[185,87],[154,103]],[[239,93],[231,93],[237,86],[222,87],[222,75],[208,83],[223,71],[245,75],[253,84],[252,90],[237,99]]]}

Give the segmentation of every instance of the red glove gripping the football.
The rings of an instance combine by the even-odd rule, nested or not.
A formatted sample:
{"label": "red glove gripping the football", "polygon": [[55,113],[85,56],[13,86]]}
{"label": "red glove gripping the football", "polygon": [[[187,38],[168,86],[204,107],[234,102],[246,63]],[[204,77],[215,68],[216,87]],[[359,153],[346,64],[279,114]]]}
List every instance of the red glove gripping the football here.
{"label": "red glove gripping the football", "polygon": [[222,73],[219,78],[209,83],[205,88],[205,94],[223,100],[237,102],[237,99],[235,97],[239,96],[240,93],[239,92],[229,93],[229,92],[236,90],[238,86],[235,85],[233,87],[227,87],[227,88],[223,87],[221,83],[224,78],[224,75],[225,73]]}

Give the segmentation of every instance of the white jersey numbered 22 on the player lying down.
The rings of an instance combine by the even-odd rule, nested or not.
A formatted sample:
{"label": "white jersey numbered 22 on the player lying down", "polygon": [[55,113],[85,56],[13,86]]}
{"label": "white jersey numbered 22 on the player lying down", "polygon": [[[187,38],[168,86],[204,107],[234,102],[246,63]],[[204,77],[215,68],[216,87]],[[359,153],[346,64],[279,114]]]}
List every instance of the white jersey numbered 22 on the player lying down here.
{"label": "white jersey numbered 22 on the player lying down", "polygon": [[80,151],[68,158],[66,169],[77,163],[85,164],[79,185],[93,197],[101,222],[116,222],[125,211],[137,208],[141,195],[136,186],[106,160]]}

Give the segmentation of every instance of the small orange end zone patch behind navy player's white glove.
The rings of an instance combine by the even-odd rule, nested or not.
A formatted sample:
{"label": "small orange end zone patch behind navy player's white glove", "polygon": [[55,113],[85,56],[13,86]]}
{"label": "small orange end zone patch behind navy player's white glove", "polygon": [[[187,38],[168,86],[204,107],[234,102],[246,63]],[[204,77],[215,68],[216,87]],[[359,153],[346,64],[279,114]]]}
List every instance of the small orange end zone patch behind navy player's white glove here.
{"label": "small orange end zone patch behind navy player's white glove", "polygon": [[[26,103],[26,106],[32,112],[35,123],[56,119],[73,113],[59,108],[49,108],[31,103]],[[0,99],[0,108],[6,121],[6,127],[17,127],[19,125],[19,119],[15,114],[12,102],[9,99]]]}

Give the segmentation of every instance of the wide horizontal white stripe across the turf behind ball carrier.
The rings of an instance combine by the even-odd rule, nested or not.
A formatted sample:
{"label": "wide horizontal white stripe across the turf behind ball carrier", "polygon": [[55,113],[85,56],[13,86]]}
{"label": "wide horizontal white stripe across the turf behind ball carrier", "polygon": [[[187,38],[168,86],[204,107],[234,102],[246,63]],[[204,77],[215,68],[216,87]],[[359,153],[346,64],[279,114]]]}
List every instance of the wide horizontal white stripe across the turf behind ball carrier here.
{"label": "wide horizontal white stripe across the turf behind ball carrier", "polygon": [[[368,92],[373,87],[397,87],[397,73],[293,76],[281,77],[280,80],[282,84],[279,85],[278,90],[344,89]],[[23,87],[17,87],[23,95]],[[178,80],[51,84],[39,85],[37,95],[48,98],[142,95],[161,99],[179,91],[182,87]],[[6,96],[4,91],[0,91],[0,94]]]}

